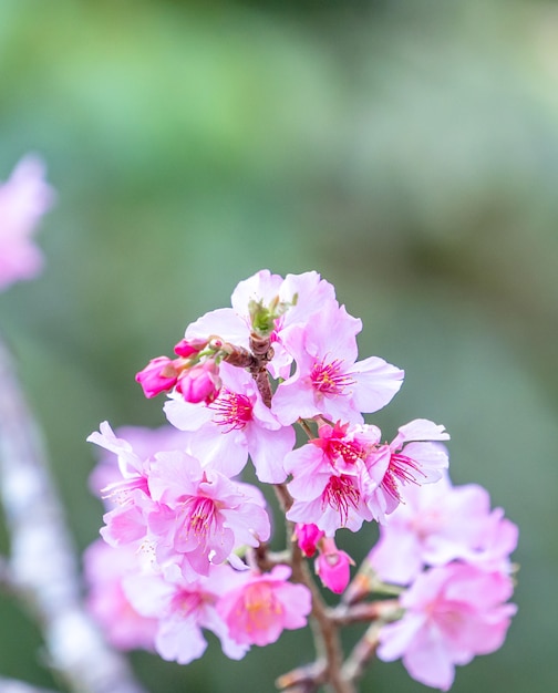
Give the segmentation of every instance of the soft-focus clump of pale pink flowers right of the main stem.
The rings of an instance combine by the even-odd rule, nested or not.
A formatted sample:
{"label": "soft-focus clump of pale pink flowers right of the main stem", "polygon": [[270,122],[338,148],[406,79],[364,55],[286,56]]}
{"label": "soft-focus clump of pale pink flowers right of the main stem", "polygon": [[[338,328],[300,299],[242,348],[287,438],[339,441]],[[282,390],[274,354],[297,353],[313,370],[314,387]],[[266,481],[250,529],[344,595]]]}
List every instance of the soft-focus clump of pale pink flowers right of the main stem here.
{"label": "soft-focus clump of pale pink flowers right of the main stem", "polygon": [[410,489],[407,501],[380,528],[369,561],[385,582],[405,587],[403,618],[382,630],[379,656],[403,658],[409,673],[447,691],[455,664],[497,650],[515,604],[510,552],[517,527],[486,490],[435,485]]}

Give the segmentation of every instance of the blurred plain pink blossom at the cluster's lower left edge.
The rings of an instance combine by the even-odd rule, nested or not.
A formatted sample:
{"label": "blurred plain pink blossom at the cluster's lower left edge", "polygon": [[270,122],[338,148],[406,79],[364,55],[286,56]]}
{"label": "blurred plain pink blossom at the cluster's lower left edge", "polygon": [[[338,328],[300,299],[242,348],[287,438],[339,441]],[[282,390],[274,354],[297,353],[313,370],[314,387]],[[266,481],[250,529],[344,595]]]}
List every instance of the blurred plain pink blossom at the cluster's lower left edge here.
{"label": "blurred plain pink blossom at the cluster's lower left edge", "polygon": [[157,620],[140,614],[123,589],[126,576],[141,570],[142,555],[132,547],[115,549],[102,539],[83,554],[87,585],[85,604],[107,641],[118,650],[154,649]]}

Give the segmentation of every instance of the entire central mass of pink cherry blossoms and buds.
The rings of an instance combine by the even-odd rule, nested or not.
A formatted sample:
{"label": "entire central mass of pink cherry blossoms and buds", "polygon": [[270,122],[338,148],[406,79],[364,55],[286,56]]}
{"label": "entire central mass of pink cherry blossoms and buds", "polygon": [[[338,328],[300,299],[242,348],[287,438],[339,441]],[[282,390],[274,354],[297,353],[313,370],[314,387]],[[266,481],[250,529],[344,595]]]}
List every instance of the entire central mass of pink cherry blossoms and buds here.
{"label": "entire central mass of pink cherry blossoms and buds", "polygon": [[[300,561],[314,557],[321,582],[345,591],[354,561],[335,535],[374,520],[382,536],[368,562],[403,591],[379,655],[403,656],[413,676],[444,689],[454,664],[499,647],[514,612],[504,602],[515,526],[478,487],[451,488],[443,426],[417,418],[389,443],[365,423],[404,373],[359,360],[361,328],[317,272],[262,270],[237,286],[230,308],[189,324],[175,358],[137,373],[147,397],[167,394],[169,425],[116,435],[104,422],[89,437],[112,455],[95,472],[104,554],[134,556],[105,576],[105,600],[128,614],[113,642],[187,663],[204,652],[207,629],[239,659],[319,609]],[[307,438],[298,446],[297,428]],[[264,494],[239,479],[249,461],[292,530],[279,557],[268,551]],[[86,560],[92,609],[106,624],[101,552]]]}

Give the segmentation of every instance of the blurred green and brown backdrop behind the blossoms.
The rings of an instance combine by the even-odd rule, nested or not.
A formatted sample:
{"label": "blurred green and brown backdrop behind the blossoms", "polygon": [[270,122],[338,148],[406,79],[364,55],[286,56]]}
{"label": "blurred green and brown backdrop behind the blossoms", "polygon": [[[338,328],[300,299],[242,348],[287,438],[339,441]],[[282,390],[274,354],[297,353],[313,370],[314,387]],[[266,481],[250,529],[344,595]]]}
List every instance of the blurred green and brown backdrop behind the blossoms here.
{"label": "blurred green and brown backdrop behind the blossoms", "polygon": [[[0,0],[0,179],[29,151],[59,197],[1,329],[80,550],[102,515],[85,437],[164,421],[135,372],[240,279],[316,269],[362,318],[362,355],[406,370],[371,421],[444,423],[454,482],[520,527],[506,644],[453,690],[555,690],[558,4]],[[189,666],[131,660],[152,692],[230,693],[311,653],[297,632],[239,663],[213,639]],[[59,685],[6,596],[0,674]],[[362,689],[426,690],[399,663]]]}

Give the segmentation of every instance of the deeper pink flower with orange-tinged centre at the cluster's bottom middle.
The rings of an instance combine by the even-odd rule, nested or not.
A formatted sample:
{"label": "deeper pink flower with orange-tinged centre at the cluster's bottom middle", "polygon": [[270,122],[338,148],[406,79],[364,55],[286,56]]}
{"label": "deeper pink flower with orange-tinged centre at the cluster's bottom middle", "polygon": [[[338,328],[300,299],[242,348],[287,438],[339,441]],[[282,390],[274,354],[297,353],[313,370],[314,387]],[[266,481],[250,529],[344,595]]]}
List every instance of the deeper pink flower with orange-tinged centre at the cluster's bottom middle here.
{"label": "deeper pink flower with orange-tinged centre at the cluster's bottom middle", "polygon": [[267,645],[285,629],[307,624],[312,609],[310,590],[287,582],[290,573],[288,566],[276,566],[268,573],[252,572],[244,585],[220,598],[217,611],[236,642]]}

